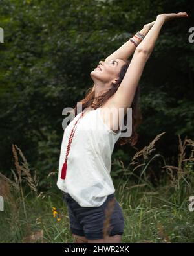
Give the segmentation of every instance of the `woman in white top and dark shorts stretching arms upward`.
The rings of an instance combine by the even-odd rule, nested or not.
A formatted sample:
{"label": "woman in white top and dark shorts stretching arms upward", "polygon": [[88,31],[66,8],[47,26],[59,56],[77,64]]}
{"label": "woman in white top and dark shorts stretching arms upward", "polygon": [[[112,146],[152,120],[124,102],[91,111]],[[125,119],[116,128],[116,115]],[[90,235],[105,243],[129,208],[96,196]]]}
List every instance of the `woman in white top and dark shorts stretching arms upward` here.
{"label": "woman in white top and dark shorts stretching arms upward", "polygon": [[[64,131],[59,160],[58,187],[64,193],[75,242],[121,242],[124,214],[111,180],[111,154],[121,135],[120,121],[133,109],[131,145],[135,144],[138,82],[166,21],[188,17],[186,12],[160,14],[91,72],[94,86],[81,101]],[[127,58],[135,51],[131,62]],[[92,106],[92,110],[91,107]],[[114,112],[110,119],[109,111]],[[86,112],[87,110],[87,112]],[[113,112],[112,112],[113,113]],[[134,124],[135,121],[135,124]],[[96,126],[101,125],[97,130]],[[126,140],[126,138],[125,138]]]}

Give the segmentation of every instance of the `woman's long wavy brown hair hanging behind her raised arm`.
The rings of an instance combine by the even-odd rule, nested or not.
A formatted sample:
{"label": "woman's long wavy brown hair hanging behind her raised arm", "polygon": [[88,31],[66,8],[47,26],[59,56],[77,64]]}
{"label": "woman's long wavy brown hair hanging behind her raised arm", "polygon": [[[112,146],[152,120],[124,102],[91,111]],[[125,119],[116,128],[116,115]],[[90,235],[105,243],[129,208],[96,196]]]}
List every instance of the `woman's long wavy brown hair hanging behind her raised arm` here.
{"label": "woman's long wavy brown hair hanging behind her raised arm", "polygon": [[[122,60],[124,60],[124,59],[122,59]],[[116,93],[118,87],[120,86],[122,80],[124,79],[125,73],[127,72],[127,69],[131,62],[130,60],[124,60],[124,61],[126,64],[123,65],[121,68],[121,71],[119,74],[120,79],[118,80],[118,82],[116,84],[112,83],[111,89],[109,89],[108,91],[106,91],[105,93],[103,93],[102,95],[100,95],[96,98],[95,98],[95,91],[93,90],[94,85],[87,90],[87,94],[86,94],[85,98],[82,99],[80,102],[78,102],[79,104],[81,104],[82,110],[84,110],[85,108],[88,108],[88,107],[94,108],[94,110],[96,110],[96,108],[99,108],[100,106],[105,104],[105,102],[107,102],[107,100],[114,93]],[[118,143],[120,145],[125,145],[127,143],[130,143],[131,146],[134,146],[138,141],[138,134],[136,132],[136,128],[138,128],[138,126],[140,125],[140,123],[142,121],[142,114],[141,114],[140,108],[138,106],[139,95],[140,95],[140,87],[138,85],[138,87],[136,88],[135,95],[133,97],[133,102],[130,106],[132,108],[132,133],[131,133],[130,137],[124,137],[124,138],[120,137],[118,139]],[[96,104],[93,104],[94,99],[96,99]],[[77,115],[77,104],[74,108],[74,113],[75,113],[75,115]],[[127,121],[127,115],[125,115],[125,117],[124,117],[124,124],[126,124],[126,121]]]}

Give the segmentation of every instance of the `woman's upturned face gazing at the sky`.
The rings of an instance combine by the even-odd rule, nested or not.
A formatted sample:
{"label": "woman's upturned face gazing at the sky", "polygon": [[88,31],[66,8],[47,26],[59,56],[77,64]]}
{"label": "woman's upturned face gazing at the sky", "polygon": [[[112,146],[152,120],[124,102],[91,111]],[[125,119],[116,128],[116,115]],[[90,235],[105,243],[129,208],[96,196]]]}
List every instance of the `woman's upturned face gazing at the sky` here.
{"label": "woman's upturned face gazing at the sky", "polygon": [[121,59],[109,60],[107,62],[100,61],[98,67],[91,72],[91,77],[93,80],[100,80],[100,82],[104,83],[116,82],[120,70],[125,64],[125,61]]}

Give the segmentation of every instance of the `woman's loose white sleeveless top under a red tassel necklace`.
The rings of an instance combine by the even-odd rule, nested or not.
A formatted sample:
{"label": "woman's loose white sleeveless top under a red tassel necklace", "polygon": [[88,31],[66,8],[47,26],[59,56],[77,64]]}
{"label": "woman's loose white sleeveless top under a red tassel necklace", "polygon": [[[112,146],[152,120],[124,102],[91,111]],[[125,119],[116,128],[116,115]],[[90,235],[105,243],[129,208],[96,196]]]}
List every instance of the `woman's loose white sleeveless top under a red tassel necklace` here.
{"label": "woman's loose white sleeveless top under a red tassel necklace", "polygon": [[102,119],[101,108],[87,111],[76,124],[67,158],[67,174],[61,179],[70,132],[81,113],[69,123],[63,134],[57,186],[82,207],[99,207],[115,192],[111,172],[111,155],[121,130],[113,132]]}

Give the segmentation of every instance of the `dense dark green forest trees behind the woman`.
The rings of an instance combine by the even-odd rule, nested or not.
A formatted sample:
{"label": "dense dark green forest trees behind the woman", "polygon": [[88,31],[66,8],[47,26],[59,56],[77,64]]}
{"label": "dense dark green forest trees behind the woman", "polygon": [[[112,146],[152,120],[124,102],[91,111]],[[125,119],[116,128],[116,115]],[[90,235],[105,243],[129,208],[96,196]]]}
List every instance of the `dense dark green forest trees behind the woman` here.
{"label": "dense dark green forest trees behind the woman", "polygon": [[[167,12],[189,18],[166,23],[140,79],[142,124],[135,148],[116,145],[114,159],[127,165],[156,135],[166,162],[178,152],[178,134],[194,135],[193,1],[1,0],[0,172],[12,177],[17,145],[37,170],[39,187],[57,174],[63,108],[74,107],[92,86],[90,72],[135,32]],[[132,56],[131,56],[132,58]],[[113,169],[114,170],[114,169]],[[147,172],[161,169],[154,161]],[[56,183],[57,176],[51,183]]]}

